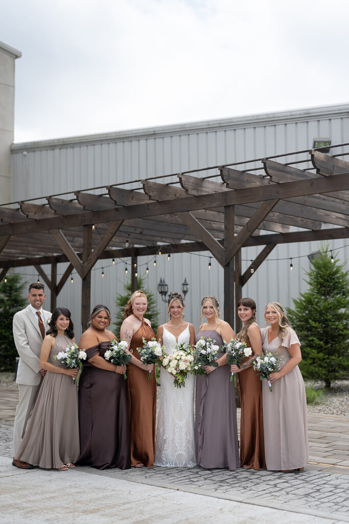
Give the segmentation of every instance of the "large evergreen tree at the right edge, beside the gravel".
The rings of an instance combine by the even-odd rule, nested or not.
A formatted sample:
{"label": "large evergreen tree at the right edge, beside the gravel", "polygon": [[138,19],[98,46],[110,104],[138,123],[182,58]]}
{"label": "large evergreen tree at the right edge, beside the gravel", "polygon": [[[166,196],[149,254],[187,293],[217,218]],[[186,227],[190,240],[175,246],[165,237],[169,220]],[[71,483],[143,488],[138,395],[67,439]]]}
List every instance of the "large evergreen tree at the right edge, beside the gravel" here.
{"label": "large evergreen tree at the right edge, beside the gravel", "polygon": [[306,272],[308,291],[292,299],[293,310],[287,308],[301,342],[303,375],[323,380],[328,388],[349,370],[349,271],[344,267],[336,259],[331,263],[329,246],[322,246]]}

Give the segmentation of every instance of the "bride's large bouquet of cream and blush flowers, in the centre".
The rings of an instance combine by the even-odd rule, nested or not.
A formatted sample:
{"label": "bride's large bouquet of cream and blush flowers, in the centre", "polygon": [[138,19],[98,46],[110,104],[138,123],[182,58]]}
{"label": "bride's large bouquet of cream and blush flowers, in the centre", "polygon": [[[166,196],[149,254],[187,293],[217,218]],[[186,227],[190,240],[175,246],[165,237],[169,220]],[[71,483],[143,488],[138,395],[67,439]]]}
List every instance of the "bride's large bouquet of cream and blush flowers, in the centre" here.
{"label": "bride's large bouquet of cream and blush flowers, in the centre", "polygon": [[185,386],[185,379],[189,373],[193,373],[195,366],[195,351],[192,346],[182,342],[176,345],[175,351],[165,355],[162,365],[168,373],[175,376],[173,384],[176,388]]}

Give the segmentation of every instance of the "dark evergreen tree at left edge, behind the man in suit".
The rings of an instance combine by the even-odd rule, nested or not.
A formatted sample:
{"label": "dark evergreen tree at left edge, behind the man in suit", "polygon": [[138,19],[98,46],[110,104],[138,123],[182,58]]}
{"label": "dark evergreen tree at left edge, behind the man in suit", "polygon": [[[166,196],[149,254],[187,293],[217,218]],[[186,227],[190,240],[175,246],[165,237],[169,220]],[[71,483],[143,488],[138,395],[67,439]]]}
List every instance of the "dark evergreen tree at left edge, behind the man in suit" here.
{"label": "dark evergreen tree at left edge, behind the man in suit", "polygon": [[7,282],[0,283],[0,370],[13,372],[18,356],[12,332],[14,314],[23,309],[27,300],[23,298],[25,282],[18,274],[8,275]]}

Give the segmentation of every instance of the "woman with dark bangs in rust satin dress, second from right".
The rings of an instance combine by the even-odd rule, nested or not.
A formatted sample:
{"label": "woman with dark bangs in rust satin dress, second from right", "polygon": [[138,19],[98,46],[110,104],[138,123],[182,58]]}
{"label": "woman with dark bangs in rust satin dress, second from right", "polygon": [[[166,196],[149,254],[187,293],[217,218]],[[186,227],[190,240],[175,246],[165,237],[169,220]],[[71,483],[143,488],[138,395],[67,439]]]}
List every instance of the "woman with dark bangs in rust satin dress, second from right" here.
{"label": "woman with dark bangs in rust satin dress, second from right", "polygon": [[253,369],[255,355],[262,355],[260,328],[255,322],[256,303],[252,298],[238,302],[238,315],[243,328],[237,337],[252,347],[252,357],[246,357],[230,370],[239,373],[241,398],[240,464],[245,470],[266,468],[264,454],[262,381]]}

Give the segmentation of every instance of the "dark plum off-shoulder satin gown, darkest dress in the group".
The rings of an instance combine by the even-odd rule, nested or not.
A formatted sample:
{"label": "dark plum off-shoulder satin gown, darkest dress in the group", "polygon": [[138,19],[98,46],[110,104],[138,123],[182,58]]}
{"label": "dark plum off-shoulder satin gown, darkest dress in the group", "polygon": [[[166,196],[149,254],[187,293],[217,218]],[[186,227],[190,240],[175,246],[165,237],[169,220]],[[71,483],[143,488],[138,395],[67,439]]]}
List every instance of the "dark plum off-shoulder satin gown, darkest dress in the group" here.
{"label": "dark plum off-shoulder satin gown, darkest dress in the group", "polygon": [[100,369],[87,362],[104,357],[109,341],[89,347],[79,382],[81,455],[78,464],[97,470],[130,467],[130,432],[127,386],[122,374]]}

